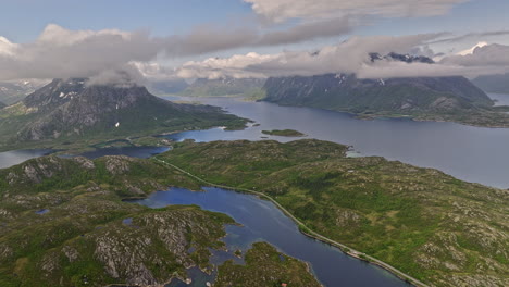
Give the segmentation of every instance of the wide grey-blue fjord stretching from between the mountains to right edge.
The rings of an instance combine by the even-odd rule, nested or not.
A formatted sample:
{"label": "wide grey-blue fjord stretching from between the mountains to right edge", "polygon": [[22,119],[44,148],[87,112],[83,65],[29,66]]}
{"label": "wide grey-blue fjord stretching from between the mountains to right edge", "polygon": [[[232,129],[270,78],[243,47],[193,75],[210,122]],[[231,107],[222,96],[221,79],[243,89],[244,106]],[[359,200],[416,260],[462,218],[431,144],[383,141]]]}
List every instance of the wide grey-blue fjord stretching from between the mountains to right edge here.
{"label": "wide grey-blue fjord stretching from between the mountains to right edge", "polygon": [[[263,129],[291,128],[311,138],[351,145],[363,155],[382,155],[389,160],[438,169],[467,182],[509,188],[509,128],[482,128],[405,118],[363,121],[347,113],[320,109],[280,107],[233,98],[199,100],[251,118],[260,126],[238,132],[220,128],[193,130],[170,135],[170,138],[193,138],[197,141],[260,140],[263,139],[262,136],[266,136],[261,134]],[[280,141],[295,139],[269,138]]]}

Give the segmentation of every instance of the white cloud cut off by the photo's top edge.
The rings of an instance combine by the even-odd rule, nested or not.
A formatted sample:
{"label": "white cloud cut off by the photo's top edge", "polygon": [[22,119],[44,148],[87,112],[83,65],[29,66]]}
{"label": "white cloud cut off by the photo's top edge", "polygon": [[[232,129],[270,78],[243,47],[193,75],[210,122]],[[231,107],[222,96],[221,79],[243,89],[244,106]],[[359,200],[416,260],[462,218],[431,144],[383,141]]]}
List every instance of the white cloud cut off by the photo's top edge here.
{"label": "white cloud cut off by the photo's top edge", "polygon": [[289,18],[328,18],[363,14],[386,16],[430,16],[446,13],[469,0],[244,0],[270,22]]}

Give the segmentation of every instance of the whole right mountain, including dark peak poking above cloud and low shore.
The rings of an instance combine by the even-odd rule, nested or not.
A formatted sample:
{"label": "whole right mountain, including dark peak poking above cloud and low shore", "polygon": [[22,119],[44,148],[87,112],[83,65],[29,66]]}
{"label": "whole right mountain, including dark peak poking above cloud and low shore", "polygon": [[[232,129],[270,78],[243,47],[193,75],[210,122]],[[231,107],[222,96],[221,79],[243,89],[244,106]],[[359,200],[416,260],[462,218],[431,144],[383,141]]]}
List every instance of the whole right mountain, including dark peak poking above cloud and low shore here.
{"label": "whole right mountain, including dark peak poking above cloud and low shore", "polygon": [[[372,61],[422,62],[425,57],[370,54]],[[271,77],[264,101],[284,105],[345,111],[362,117],[410,116],[479,126],[509,126],[509,115],[492,109],[494,102],[462,76],[361,79],[356,75]]]}

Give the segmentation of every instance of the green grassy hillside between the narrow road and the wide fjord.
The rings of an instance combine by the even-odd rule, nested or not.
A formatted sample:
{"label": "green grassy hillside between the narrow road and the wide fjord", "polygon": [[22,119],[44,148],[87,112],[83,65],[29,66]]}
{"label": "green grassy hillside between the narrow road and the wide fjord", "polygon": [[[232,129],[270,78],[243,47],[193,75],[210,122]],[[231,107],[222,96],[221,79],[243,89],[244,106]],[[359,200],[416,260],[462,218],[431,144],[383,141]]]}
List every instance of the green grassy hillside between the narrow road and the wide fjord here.
{"label": "green grassy hillside between the narrow road and the wide fjord", "polygon": [[158,155],[266,192],[313,230],[434,286],[509,284],[509,191],[319,140],[183,142]]}

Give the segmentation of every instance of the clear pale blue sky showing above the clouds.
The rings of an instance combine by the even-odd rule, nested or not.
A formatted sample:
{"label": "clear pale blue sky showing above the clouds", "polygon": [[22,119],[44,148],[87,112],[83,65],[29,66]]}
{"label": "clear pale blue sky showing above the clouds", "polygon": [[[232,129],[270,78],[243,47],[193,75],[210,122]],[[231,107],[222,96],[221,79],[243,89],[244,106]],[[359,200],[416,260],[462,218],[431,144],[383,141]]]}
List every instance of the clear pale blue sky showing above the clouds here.
{"label": "clear pale blue sky showing above the clouds", "polygon": [[[14,42],[34,40],[49,23],[69,29],[149,29],[185,34],[197,25],[249,25],[256,15],[240,0],[0,0],[0,35]],[[472,0],[432,17],[389,17],[359,28],[360,35],[508,29],[509,1]]]}

